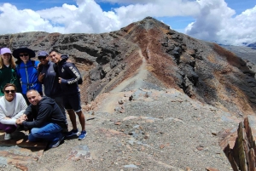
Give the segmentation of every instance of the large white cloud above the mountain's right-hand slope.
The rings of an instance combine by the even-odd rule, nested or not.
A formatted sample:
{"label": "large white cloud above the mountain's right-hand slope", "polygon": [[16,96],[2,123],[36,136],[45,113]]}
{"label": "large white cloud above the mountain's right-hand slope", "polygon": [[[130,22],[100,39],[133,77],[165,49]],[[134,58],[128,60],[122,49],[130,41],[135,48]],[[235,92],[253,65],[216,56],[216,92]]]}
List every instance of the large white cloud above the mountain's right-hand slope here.
{"label": "large white cloud above the mountain's right-hand slope", "polygon": [[201,0],[198,3],[201,13],[195,16],[195,22],[187,26],[186,34],[224,44],[255,42],[256,6],[233,17],[235,10],[230,9],[223,0]]}

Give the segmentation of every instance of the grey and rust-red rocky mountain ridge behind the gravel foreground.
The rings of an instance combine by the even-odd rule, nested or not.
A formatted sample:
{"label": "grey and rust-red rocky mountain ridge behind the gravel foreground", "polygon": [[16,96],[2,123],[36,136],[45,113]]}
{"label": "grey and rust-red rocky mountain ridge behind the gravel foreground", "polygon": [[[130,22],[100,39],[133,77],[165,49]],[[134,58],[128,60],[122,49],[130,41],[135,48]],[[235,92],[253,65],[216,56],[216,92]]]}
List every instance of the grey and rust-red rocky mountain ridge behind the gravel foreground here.
{"label": "grey and rust-red rocky mountain ridge behind the gravel foreground", "polygon": [[253,64],[215,43],[189,37],[147,17],[102,34],[26,32],[0,36],[0,46],[68,54],[84,77],[82,101],[133,88],[176,88],[236,116],[256,105]]}

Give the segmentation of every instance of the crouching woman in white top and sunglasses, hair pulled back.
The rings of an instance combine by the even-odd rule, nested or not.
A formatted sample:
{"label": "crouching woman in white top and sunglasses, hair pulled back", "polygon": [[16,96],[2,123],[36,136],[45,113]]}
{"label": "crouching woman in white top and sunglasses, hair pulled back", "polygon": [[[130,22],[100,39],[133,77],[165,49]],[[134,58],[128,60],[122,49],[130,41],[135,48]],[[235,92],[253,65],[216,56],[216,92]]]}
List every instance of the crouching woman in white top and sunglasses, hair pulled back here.
{"label": "crouching woman in white top and sunglasses, hair pulled back", "polygon": [[3,87],[4,96],[0,98],[0,130],[5,132],[4,140],[11,139],[11,133],[15,132],[16,119],[26,110],[26,100],[23,95],[16,93],[17,88],[13,83],[7,83]]}

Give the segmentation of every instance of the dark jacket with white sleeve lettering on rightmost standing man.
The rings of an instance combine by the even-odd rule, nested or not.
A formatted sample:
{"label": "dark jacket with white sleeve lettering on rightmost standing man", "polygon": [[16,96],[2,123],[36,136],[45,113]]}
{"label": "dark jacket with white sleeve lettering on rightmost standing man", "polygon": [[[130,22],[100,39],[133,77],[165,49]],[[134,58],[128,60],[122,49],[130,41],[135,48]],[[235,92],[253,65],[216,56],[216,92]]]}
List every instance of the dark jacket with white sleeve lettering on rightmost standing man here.
{"label": "dark jacket with white sleeve lettering on rightmost standing man", "polygon": [[73,63],[67,62],[68,56],[61,55],[61,61],[57,64],[57,71],[61,77],[61,90],[63,94],[75,94],[80,91],[78,81],[79,70]]}

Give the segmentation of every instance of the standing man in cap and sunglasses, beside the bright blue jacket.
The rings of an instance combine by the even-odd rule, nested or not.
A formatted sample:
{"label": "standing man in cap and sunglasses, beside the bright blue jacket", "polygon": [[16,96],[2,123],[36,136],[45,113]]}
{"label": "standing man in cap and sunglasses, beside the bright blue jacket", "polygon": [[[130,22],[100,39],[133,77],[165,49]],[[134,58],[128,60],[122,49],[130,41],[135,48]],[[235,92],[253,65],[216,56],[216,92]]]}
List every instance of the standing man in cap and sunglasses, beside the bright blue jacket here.
{"label": "standing man in cap and sunglasses, beside the bright blue jacket", "polygon": [[38,81],[44,84],[44,94],[55,100],[66,117],[61,94],[61,84],[54,70],[54,63],[49,61],[49,54],[45,51],[38,52],[38,60],[40,61],[40,65],[38,66]]}

